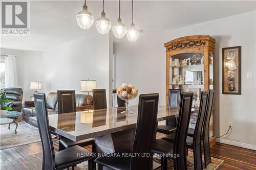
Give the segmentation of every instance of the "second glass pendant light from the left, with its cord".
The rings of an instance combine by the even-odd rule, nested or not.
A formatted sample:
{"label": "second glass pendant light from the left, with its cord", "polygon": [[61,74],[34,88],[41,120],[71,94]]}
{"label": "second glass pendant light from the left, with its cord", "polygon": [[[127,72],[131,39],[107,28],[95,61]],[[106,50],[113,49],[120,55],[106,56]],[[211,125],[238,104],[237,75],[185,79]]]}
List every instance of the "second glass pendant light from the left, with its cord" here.
{"label": "second glass pendant light from the left, with its cord", "polygon": [[104,13],[104,0],[102,4],[103,10],[101,12],[101,17],[96,21],[96,28],[100,34],[106,34],[110,31],[111,22],[106,18],[106,14]]}

